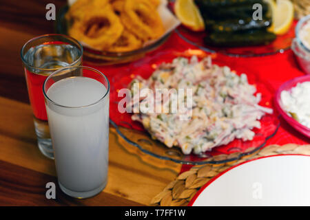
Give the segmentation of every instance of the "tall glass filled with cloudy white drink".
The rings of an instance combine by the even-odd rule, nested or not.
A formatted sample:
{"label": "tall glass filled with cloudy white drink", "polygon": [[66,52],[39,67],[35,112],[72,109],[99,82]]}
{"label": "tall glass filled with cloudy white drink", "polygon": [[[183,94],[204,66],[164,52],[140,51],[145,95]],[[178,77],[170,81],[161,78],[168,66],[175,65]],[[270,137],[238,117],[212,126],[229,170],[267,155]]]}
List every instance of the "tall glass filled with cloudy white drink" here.
{"label": "tall glass filled with cloudy white drink", "polygon": [[91,67],[63,67],[45,80],[43,94],[59,186],[92,197],[107,184],[109,81]]}

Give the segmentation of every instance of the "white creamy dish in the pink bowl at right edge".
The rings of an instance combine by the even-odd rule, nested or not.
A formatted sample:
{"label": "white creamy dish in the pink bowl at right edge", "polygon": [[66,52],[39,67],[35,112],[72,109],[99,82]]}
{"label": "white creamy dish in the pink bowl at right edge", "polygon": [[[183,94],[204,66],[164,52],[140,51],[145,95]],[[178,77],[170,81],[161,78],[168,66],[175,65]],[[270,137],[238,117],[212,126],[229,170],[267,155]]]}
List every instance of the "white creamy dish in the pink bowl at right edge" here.
{"label": "white creamy dish in the pink bowl at right edge", "polygon": [[298,83],[291,91],[281,92],[285,111],[310,129],[310,82]]}

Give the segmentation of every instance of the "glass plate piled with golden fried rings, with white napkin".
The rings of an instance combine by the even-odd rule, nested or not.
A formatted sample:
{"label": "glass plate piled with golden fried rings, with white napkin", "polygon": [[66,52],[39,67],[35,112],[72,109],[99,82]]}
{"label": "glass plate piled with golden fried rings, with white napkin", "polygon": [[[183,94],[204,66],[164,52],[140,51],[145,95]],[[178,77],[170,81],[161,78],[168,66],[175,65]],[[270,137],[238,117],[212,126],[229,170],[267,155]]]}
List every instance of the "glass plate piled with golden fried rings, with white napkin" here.
{"label": "glass plate piled with golden fried rings, with white napkin", "polygon": [[166,0],[71,0],[56,31],[81,42],[87,61],[127,63],[162,45],[180,24]]}

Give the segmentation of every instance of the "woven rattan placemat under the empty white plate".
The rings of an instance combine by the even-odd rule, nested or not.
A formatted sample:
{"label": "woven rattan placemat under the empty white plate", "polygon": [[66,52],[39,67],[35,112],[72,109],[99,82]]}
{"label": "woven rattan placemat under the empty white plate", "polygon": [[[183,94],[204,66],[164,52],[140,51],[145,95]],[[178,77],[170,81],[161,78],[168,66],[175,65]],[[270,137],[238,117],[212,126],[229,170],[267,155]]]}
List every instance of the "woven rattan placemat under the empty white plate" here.
{"label": "woven rattan placemat under the empty white plate", "polygon": [[[152,199],[150,206],[187,206],[189,201],[191,201],[202,186],[207,184],[212,177],[218,175],[218,173],[223,172],[227,168],[250,159],[282,154],[310,155],[310,144],[269,145],[252,155],[247,155],[225,164],[193,166],[190,170],[178,175],[174,181],[170,182],[165,187],[163,192],[156,195],[156,197]],[[220,156],[227,157],[227,155]]]}

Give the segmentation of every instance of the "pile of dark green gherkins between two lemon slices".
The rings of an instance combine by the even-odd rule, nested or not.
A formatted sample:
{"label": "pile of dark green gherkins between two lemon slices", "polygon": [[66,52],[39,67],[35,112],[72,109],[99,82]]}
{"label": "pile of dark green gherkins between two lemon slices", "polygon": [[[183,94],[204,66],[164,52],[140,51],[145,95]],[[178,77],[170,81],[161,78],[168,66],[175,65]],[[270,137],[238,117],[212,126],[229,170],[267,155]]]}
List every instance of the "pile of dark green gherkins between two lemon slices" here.
{"label": "pile of dark green gherkins between two lemon slices", "polygon": [[[268,44],[276,35],[268,32],[271,10],[263,0],[194,0],[205,20],[207,45],[241,47]],[[262,7],[262,19],[254,19],[253,5]]]}

